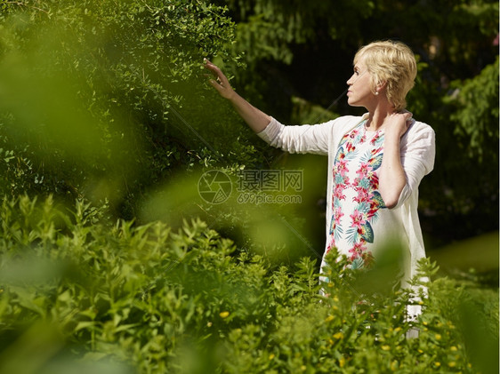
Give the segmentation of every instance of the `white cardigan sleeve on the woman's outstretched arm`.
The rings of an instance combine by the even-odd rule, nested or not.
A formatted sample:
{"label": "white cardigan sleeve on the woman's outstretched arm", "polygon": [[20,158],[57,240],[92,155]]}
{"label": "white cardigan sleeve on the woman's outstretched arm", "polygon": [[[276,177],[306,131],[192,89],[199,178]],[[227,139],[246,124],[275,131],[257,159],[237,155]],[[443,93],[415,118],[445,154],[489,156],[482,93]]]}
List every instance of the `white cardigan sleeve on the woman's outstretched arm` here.
{"label": "white cardigan sleeve on the woman's outstretched arm", "polygon": [[272,147],[289,153],[327,155],[332,127],[335,121],[319,124],[285,126],[271,118],[267,127],[257,135]]}

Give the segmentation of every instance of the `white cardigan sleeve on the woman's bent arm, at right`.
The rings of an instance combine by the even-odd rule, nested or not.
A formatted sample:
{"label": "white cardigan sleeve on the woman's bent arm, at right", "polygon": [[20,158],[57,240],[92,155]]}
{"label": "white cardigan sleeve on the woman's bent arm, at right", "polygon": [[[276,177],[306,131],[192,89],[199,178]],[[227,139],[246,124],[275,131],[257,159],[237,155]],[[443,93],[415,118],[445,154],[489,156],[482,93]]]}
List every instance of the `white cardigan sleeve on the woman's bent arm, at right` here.
{"label": "white cardigan sleeve on the woman's bent arm, at right", "polygon": [[434,168],[436,155],[435,134],[431,126],[425,123],[414,123],[401,138],[401,164],[405,171],[407,183],[395,208],[404,203],[420,185],[423,177]]}

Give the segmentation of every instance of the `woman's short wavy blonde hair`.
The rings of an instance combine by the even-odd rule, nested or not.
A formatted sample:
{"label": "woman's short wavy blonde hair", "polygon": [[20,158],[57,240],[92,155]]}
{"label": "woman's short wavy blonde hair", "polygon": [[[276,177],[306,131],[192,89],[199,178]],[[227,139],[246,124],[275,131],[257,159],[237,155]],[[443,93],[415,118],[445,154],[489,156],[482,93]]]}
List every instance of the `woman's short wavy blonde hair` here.
{"label": "woman's short wavy blonde hair", "polygon": [[407,93],[415,85],[415,55],[407,44],[395,41],[374,42],[361,47],[354,56],[354,65],[364,59],[372,76],[372,92],[385,82],[387,99],[400,111],[407,106]]}

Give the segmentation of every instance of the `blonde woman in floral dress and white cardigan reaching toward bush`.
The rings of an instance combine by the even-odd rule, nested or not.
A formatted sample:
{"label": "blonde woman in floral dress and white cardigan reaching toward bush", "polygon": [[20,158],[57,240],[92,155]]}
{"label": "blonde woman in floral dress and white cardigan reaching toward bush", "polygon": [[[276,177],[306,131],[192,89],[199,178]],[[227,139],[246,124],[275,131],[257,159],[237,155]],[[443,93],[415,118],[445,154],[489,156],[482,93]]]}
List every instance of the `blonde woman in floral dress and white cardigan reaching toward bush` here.
{"label": "blonde woman in floral dress and white cardigan reaching toward bush", "polygon": [[230,87],[210,61],[210,83],[229,99],[248,125],[273,147],[291,153],[328,155],[327,243],[369,267],[388,243],[407,248],[403,282],[425,256],[417,215],[418,186],[434,163],[434,131],[405,110],[414,86],[416,62],[407,45],[383,41],[362,47],[347,81],[348,103],[365,107],[362,116],[327,123],[285,126],[253,107]]}

